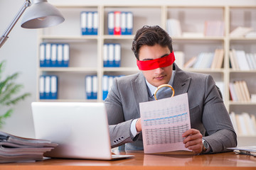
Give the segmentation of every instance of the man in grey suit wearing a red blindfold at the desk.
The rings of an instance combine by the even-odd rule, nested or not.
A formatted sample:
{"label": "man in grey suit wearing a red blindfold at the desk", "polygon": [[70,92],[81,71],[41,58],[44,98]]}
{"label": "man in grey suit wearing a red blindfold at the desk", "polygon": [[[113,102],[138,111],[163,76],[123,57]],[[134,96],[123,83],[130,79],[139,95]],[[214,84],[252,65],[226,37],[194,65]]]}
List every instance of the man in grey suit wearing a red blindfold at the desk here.
{"label": "man in grey suit wearing a red blindfold at the desk", "polygon": [[[188,93],[191,129],[183,144],[195,154],[226,152],[237,136],[213,77],[184,72],[175,64],[172,40],[159,26],[137,30],[132,42],[139,73],[114,79],[105,100],[112,147],[143,149],[139,103],[154,100],[161,84],[174,87],[175,96]],[[169,97],[166,96],[163,98]]]}

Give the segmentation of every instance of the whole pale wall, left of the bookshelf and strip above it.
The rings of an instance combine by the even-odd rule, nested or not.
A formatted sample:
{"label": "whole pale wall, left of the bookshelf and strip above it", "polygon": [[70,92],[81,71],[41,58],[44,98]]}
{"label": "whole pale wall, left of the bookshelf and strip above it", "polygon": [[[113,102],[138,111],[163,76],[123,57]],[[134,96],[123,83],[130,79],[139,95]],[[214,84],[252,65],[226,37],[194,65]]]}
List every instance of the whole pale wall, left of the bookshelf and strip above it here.
{"label": "whole pale wall, left of the bookshelf and strip above it", "polygon": [[[25,0],[24,0],[25,1]],[[21,8],[24,1],[21,0],[1,0],[0,1],[0,33],[4,33],[6,27],[12,21],[19,8]],[[192,5],[234,5],[234,6],[256,6],[255,0],[49,0],[52,4],[192,4]],[[7,60],[4,75],[13,74],[14,72],[21,72],[17,83],[23,84],[24,88],[21,93],[30,92],[31,96],[21,101],[15,106],[15,111],[11,118],[6,120],[6,125],[2,131],[19,135],[23,137],[34,137],[33,120],[31,115],[31,102],[36,101],[36,48],[37,34],[36,30],[26,30],[21,28],[21,21],[18,21],[14,29],[9,35],[9,40],[6,41],[0,49],[0,61]],[[2,113],[0,108],[0,114]]]}

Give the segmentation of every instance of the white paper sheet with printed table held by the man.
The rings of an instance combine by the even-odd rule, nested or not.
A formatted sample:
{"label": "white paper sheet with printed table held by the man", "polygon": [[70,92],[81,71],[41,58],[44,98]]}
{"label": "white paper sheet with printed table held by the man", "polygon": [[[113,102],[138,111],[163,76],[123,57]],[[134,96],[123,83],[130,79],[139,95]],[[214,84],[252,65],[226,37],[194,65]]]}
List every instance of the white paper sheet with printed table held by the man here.
{"label": "white paper sheet with printed table held by the man", "polygon": [[144,153],[188,150],[183,132],[191,128],[188,94],[139,103]]}

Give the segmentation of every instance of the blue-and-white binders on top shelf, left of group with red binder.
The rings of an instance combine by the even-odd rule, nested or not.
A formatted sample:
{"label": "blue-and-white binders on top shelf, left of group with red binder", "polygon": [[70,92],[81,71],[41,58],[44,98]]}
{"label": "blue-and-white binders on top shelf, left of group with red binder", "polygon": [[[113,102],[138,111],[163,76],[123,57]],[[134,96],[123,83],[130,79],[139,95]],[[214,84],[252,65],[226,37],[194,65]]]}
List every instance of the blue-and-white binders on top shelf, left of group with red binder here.
{"label": "blue-and-white binders on top shelf, left of group with red binder", "polygon": [[97,35],[98,21],[97,11],[82,11],[80,13],[80,28],[82,35]]}

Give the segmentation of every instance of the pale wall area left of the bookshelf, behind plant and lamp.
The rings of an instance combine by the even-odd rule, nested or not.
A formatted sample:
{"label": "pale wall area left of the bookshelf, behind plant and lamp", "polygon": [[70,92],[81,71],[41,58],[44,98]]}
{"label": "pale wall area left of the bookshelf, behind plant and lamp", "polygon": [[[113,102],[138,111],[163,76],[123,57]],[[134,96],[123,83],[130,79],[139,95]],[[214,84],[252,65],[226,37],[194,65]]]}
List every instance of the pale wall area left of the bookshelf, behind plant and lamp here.
{"label": "pale wall area left of the bookshelf, behind plant and lamp", "polygon": [[[12,19],[23,5],[21,0],[1,0],[0,1],[0,33],[1,35],[9,26]],[[9,40],[0,49],[0,61],[6,60],[4,77],[20,72],[16,83],[23,84],[24,92],[31,93],[31,96],[21,101],[15,106],[15,111],[11,118],[6,120],[2,131],[10,132],[23,137],[33,137],[33,121],[31,117],[31,102],[36,101],[36,30],[28,30],[20,27],[21,21],[9,34]],[[3,109],[0,108],[0,114]]]}

